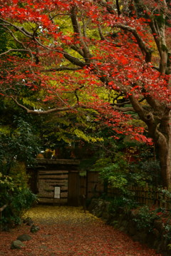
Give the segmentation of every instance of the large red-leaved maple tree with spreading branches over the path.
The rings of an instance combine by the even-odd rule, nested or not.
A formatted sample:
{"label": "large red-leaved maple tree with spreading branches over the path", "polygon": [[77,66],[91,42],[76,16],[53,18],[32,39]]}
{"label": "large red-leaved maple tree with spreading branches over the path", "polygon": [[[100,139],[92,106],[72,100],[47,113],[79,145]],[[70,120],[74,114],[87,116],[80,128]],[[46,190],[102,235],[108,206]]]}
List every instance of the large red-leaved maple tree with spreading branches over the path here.
{"label": "large red-leaved maple tree with spreading branches over the path", "polygon": [[[6,0],[0,6],[8,42],[0,54],[1,96],[33,114],[93,108],[98,120],[137,140],[150,141],[146,129],[170,188],[170,1]],[[54,108],[29,109],[26,88]],[[134,127],[133,117],[145,126]]]}

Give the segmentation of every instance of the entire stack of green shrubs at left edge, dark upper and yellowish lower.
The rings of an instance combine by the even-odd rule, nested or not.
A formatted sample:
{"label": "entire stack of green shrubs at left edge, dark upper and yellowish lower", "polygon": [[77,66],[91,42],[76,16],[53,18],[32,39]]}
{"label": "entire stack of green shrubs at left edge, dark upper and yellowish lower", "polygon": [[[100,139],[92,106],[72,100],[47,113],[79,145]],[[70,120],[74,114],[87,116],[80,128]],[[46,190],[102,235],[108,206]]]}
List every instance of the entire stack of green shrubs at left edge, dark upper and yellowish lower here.
{"label": "entire stack of green shrubs at left edge, dark upper and yellowish lower", "polygon": [[16,118],[11,126],[1,124],[0,129],[0,207],[2,227],[21,222],[21,215],[31,207],[36,195],[28,189],[26,165],[33,165],[40,151],[39,140],[30,124]]}

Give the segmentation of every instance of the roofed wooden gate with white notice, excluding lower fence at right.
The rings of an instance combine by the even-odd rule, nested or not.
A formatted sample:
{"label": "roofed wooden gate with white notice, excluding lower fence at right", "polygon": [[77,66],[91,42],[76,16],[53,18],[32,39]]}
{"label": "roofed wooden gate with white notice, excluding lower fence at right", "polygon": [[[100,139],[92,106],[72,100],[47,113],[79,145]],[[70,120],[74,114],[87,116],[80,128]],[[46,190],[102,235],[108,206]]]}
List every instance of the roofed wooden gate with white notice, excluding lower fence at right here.
{"label": "roofed wooden gate with white notice, excluding lower fence at right", "polygon": [[38,159],[33,170],[30,188],[38,195],[39,203],[79,205],[79,161],[72,159]]}

